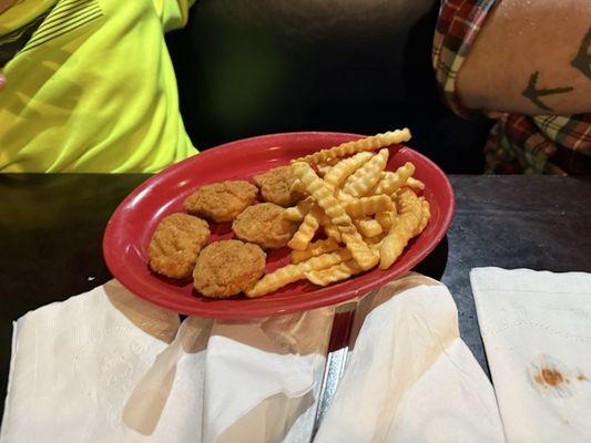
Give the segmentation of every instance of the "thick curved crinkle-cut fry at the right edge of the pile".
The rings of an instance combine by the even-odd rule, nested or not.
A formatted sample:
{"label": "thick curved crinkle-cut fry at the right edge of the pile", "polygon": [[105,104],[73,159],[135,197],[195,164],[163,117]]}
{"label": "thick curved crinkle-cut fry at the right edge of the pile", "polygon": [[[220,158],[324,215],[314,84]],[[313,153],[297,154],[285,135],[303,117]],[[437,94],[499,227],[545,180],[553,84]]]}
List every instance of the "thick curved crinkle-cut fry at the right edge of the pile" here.
{"label": "thick curved crinkle-cut fry at the right edge of the pile", "polygon": [[381,241],[379,248],[379,268],[389,268],[396,259],[403,254],[408,241],[419,235],[427,223],[424,215],[424,205],[417,195],[410,190],[405,189],[399,195],[400,214],[396,219],[390,233]]}

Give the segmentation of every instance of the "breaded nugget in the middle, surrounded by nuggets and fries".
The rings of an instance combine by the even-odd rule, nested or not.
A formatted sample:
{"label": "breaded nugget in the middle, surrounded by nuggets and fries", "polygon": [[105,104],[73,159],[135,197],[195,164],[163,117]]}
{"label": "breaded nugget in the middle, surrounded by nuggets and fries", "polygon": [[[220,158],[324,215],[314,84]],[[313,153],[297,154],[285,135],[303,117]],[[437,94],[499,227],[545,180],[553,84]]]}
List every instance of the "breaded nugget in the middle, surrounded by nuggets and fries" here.
{"label": "breaded nugget in the middle, surrounded by nuggets and fries", "polygon": [[283,217],[284,210],[273,203],[248,206],[234,219],[232,230],[241,240],[262,248],[283,248],[297,230],[297,223]]}

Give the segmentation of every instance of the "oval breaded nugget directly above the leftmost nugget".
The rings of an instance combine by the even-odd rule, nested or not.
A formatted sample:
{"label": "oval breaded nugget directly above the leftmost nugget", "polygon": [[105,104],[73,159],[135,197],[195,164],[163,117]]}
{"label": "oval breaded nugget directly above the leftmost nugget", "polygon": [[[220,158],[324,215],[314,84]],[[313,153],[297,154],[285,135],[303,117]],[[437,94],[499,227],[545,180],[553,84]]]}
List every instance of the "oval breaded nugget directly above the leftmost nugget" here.
{"label": "oval breaded nugget directly above the leftmost nugget", "polygon": [[232,222],[258,194],[253,184],[245,181],[227,181],[200,187],[183,203],[188,214],[213,222]]}

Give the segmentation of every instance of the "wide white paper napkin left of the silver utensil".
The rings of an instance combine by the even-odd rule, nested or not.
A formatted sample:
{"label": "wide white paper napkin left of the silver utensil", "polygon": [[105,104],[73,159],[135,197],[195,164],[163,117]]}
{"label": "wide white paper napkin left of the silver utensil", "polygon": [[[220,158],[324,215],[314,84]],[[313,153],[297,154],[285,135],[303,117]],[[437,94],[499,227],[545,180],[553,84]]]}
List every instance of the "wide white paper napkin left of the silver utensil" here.
{"label": "wide white paper napkin left of the silver utensil", "polygon": [[180,328],[110,281],[16,322],[0,442],[307,441],[332,320]]}

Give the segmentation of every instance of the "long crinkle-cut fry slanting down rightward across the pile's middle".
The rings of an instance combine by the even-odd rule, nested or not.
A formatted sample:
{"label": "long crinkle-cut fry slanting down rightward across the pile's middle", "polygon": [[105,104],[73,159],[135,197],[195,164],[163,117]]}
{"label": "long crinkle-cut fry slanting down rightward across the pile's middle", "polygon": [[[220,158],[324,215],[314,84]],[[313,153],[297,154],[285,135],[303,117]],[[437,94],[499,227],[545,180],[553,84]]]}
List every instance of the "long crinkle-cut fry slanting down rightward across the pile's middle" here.
{"label": "long crinkle-cut fry slanting down rightward across the pile's middle", "polygon": [[300,179],[304,186],[306,186],[308,194],[313,196],[324,209],[329,217],[330,223],[337,227],[343,241],[347,245],[347,249],[351,253],[355,261],[357,261],[363,269],[374,267],[379,258],[365,244],[353,224],[353,220],[347,215],[338,199],[333,195],[330,186],[324,183],[307,163],[293,163],[292,171],[294,172],[294,175]]}

